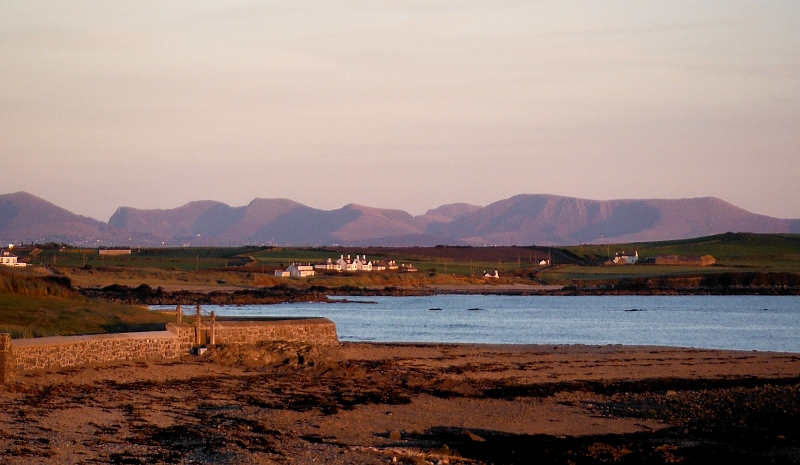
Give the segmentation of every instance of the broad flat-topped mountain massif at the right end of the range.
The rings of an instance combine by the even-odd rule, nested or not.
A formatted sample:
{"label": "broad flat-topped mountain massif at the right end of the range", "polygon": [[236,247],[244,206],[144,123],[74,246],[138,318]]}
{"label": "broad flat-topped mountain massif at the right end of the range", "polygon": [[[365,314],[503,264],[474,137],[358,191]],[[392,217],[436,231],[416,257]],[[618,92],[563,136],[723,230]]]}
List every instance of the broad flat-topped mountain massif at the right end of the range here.
{"label": "broad flat-topped mountain massif at the right end of the range", "polygon": [[429,232],[474,245],[641,242],[733,232],[800,232],[797,221],[757,215],[714,197],[587,200],[517,195]]}

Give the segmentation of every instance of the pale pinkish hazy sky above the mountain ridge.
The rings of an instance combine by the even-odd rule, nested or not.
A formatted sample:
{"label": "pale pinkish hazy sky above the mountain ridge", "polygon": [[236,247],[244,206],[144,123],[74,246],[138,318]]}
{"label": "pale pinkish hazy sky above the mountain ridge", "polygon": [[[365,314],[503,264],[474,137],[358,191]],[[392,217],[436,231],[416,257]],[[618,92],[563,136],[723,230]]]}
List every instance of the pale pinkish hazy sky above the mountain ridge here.
{"label": "pale pinkish hazy sky above the mountain ridge", "polygon": [[0,193],[800,218],[800,2],[0,0]]}

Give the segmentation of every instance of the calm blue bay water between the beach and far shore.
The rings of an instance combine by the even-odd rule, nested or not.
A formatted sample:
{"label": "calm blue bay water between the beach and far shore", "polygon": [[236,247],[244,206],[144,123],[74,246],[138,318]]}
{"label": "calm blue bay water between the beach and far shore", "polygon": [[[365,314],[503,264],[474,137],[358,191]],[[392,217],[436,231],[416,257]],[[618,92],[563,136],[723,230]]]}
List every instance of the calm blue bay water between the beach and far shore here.
{"label": "calm blue bay water between the beach and far shore", "polygon": [[206,305],[203,310],[220,316],[323,316],[336,323],[342,341],[624,344],[800,353],[797,296],[438,295],[350,300],[375,303]]}

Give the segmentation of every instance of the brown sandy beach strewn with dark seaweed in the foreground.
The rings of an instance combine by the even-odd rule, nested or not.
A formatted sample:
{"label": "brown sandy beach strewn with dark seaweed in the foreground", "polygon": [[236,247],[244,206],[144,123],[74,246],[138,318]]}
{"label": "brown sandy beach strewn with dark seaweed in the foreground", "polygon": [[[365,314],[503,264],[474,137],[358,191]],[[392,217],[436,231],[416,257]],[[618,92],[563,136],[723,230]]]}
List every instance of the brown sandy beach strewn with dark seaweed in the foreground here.
{"label": "brown sandy beach strewn with dark seaweed in the foreground", "polygon": [[20,373],[3,463],[800,460],[800,355],[622,346],[217,347]]}

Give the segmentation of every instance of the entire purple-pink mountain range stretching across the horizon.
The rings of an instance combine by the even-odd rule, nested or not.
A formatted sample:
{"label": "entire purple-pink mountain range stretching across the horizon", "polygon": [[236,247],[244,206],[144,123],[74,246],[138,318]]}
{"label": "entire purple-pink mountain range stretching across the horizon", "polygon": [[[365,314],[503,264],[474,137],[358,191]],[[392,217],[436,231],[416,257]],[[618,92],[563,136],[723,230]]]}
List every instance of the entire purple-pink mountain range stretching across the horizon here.
{"label": "entire purple-pink mountain range stretching across the horizon", "polygon": [[417,216],[356,204],[321,210],[288,199],[257,198],[241,207],[203,200],[164,210],[120,207],[106,223],[27,192],[0,195],[2,243],[572,245],[685,239],[729,231],[800,233],[800,219],[758,215],[715,197],[588,200],[521,194],[485,207],[442,205]]}

